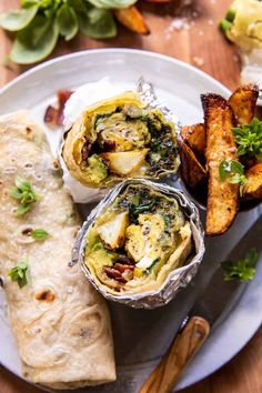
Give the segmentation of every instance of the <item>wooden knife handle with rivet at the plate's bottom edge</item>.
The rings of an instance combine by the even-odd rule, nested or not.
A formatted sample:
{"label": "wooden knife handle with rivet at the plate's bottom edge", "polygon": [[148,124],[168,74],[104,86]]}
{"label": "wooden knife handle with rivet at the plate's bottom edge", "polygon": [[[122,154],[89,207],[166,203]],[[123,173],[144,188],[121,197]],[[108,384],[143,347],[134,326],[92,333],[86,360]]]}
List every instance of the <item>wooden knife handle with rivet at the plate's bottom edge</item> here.
{"label": "wooden knife handle with rivet at the plate's bottom edge", "polygon": [[192,316],[179,333],[157,369],[143,384],[140,393],[170,393],[190,360],[203,344],[210,332],[209,322]]}

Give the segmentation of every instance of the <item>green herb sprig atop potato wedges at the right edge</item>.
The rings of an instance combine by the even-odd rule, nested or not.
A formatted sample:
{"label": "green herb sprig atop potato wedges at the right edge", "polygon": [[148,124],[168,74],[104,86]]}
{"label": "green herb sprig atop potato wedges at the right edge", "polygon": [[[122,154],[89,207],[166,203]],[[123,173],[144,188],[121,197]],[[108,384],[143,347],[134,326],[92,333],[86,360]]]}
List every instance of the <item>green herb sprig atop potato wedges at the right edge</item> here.
{"label": "green herb sprig atop potato wedges at the right edge", "polygon": [[254,118],[250,124],[232,129],[238,154],[262,161],[262,121]]}

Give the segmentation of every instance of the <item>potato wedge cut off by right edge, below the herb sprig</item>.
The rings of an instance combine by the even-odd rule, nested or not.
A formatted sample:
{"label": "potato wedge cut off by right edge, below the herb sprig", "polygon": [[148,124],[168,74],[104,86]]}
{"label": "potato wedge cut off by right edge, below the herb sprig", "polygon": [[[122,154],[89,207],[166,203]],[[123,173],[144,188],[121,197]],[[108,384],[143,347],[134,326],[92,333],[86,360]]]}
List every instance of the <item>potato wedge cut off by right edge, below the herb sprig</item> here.
{"label": "potato wedge cut off by right edge, below the herb sprig", "polygon": [[262,162],[251,167],[246,172],[246,183],[243,190],[245,199],[262,198]]}

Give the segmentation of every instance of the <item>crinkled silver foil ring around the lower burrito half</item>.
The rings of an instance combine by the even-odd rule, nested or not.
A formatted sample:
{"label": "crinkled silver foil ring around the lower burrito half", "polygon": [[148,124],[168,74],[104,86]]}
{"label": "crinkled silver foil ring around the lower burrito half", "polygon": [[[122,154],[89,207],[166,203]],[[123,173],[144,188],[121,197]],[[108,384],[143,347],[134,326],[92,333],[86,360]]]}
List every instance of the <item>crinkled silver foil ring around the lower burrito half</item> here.
{"label": "crinkled silver foil ring around the lower burrito half", "polygon": [[[185,265],[171,271],[157,291],[141,292],[133,295],[125,294],[111,294],[108,293],[103,288],[101,288],[97,281],[93,279],[89,268],[84,263],[84,249],[85,249],[85,234],[89,226],[99,216],[104,208],[109,206],[115,198],[121,194],[128,185],[144,184],[151,189],[162,192],[168,196],[173,196],[184,213],[184,215],[190,221],[193,243],[194,243],[194,255],[190,255],[189,260],[185,261]],[[203,259],[204,254],[204,232],[201,226],[199,211],[195,205],[184,195],[184,193],[178,189],[174,189],[170,185],[162,183],[153,183],[144,179],[133,179],[127,180],[118,185],[115,185],[107,196],[98,204],[95,209],[92,210],[87,221],[83,223],[81,230],[78,233],[75,244],[72,249],[72,264],[80,263],[83,270],[83,273],[93,284],[93,286],[108,300],[127,304],[135,309],[155,309],[168,304],[179,292],[181,288],[184,288],[189,284],[192,278],[195,275],[199,265]]]}

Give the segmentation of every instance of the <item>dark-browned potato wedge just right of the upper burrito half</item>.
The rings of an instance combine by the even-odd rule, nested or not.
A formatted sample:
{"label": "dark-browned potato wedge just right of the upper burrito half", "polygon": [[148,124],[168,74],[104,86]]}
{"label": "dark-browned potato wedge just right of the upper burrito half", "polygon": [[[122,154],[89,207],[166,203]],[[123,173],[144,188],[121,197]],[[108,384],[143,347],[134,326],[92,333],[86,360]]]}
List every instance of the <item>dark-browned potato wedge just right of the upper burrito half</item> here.
{"label": "dark-browned potato wedge just right of the upper burrito half", "polygon": [[181,140],[179,141],[179,153],[183,180],[189,187],[194,189],[206,179],[206,171],[201,165],[191,148]]}

